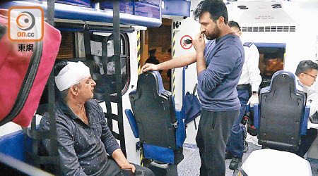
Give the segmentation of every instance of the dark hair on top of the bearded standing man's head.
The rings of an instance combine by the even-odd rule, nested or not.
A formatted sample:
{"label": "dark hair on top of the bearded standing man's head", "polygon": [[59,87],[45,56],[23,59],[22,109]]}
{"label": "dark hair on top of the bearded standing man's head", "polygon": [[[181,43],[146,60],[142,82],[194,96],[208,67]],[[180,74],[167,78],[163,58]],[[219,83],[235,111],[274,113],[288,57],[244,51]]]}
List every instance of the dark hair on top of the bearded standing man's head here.
{"label": "dark hair on top of the bearded standing man's head", "polygon": [[194,10],[194,20],[197,20],[201,17],[201,15],[205,12],[209,12],[211,15],[211,19],[216,22],[218,18],[223,16],[224,23],[228,24],[228,9],[225,4],[221,0],[205,0],[201,1],[196,9]]}

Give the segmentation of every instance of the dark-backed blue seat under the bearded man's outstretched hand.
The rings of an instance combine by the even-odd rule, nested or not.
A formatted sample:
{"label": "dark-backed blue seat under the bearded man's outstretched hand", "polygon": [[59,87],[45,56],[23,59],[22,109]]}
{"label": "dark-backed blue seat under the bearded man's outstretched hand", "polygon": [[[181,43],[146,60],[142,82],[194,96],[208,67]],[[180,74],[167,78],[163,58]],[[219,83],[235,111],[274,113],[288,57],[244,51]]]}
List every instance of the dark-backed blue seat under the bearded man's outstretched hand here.
{"label": "dark-backed blue seat under the bearded man's outstretched hand", "polygon": [[177,165],[183,159],[184,119],[175,111],[172,94],[163,88],[160,73],[139,75],[137,89],[130,92],[129,99],[133,113],[125,113],[134,136],[140,139],[143,156]]}

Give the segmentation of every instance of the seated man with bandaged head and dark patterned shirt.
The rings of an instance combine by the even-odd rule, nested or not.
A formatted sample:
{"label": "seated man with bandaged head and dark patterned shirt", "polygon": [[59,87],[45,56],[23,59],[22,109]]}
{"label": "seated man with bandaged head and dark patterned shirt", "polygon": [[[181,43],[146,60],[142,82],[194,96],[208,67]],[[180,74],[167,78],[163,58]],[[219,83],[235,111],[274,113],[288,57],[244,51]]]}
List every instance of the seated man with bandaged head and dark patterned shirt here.
{"label": "seated man with bandaged head and dark patterned shirt", "polygon": [[[55,68],[55,82],[61,92],[54,109],[62,174],[121,175],[121,169],[126,169],[146,170],[146,175],[154,176],[148,168],[126,160],[107,126],[102,107],[92,99],[96,83],[90,69],[81,62],[61,62]],[[49,130],[49,113],[41,119],[39,130]],[[49,139],[42,144],[50,151]]]}

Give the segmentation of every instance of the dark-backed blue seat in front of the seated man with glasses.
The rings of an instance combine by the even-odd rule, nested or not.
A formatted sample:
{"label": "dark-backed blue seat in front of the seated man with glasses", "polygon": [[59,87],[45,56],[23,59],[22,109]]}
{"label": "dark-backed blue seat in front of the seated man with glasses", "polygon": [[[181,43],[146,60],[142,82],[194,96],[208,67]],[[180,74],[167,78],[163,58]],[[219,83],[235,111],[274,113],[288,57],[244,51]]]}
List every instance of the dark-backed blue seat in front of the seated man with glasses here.
{"label": "dark-backed blue seat in front of the seated man with glasses", "polygon": [[310,107],[305,103],[306,94],[296,89],[295,75],[283,70],[276,72],[270,86],[261,89],[259,104],[254,105],[259,144],[297,151],[300,134],[307,130]]}

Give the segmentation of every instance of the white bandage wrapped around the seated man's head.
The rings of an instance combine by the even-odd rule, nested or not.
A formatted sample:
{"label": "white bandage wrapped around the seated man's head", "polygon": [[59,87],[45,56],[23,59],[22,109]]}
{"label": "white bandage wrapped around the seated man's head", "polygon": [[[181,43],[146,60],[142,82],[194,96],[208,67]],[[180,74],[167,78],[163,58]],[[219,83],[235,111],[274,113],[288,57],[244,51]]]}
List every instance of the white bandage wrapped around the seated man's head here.
{"label": "white bandage wrapped around the seated man's head", "polygon": [[59,91],[64,91],[88,77],[90,77],[88,66],[82,62],[69,62],[55,77],[55,84],[57,84]]}

